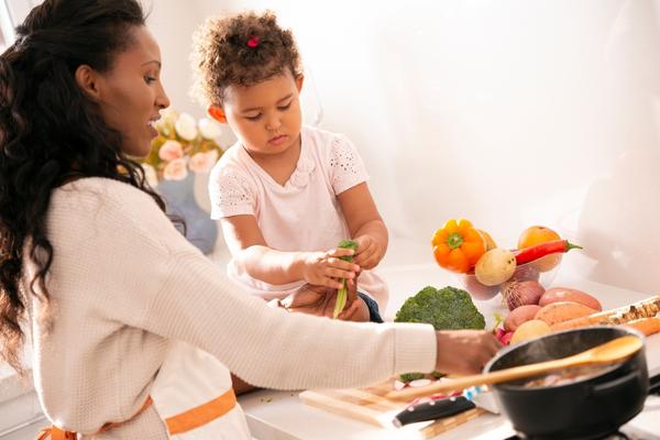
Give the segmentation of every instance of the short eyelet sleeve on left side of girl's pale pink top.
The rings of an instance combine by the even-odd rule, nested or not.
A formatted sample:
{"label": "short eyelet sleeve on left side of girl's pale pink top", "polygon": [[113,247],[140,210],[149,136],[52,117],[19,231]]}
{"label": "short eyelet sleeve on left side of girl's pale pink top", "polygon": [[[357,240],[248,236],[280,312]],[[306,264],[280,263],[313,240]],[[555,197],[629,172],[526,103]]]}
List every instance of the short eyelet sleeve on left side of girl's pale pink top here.
{"label": "short eyelet sleeve on left side of girl's pale pink top", "polygon": [[211,218],[254,215],[254,193],[235,169],[213,169],[209,179]]}

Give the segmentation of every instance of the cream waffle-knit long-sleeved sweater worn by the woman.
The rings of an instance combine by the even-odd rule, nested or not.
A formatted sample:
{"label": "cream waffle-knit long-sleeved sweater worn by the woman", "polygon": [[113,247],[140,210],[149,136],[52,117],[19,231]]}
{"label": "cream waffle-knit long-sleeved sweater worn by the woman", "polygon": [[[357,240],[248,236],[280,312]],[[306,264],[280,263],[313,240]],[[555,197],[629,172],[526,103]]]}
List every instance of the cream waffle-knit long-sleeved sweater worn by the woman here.
{"label": "cream waffle-knit long-sleeved sweater worn by the woman", "polygon": [[[363,386],[435,367],[431,326],[349,323],[266,307],[130,185],[85,178],[56,189],[47,234],[53,327],[46,333],[33,300],[34,381],[45,414],[68,430],[90,433],[132,417],[177,339],[270,388]],[[103,438],[167,437],[152,406]]]}

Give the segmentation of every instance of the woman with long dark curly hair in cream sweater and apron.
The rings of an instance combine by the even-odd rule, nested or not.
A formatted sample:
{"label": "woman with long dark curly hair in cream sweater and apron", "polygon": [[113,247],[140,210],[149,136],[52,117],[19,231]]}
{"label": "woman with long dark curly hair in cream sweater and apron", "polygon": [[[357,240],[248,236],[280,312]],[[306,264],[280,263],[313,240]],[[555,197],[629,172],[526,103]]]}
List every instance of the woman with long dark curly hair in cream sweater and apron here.
{"label": "woman with long dark curly hair in cream sweater and apron", "polygon": [[53,438],[249,438],[228,367],[352,387],[476,372],[497,350],[486,332],[339,322],[239,292],[130,158],[169,105],[140,4],[45,0],[16,32],[0,56],[1,353],[21,370],[25,326]]}

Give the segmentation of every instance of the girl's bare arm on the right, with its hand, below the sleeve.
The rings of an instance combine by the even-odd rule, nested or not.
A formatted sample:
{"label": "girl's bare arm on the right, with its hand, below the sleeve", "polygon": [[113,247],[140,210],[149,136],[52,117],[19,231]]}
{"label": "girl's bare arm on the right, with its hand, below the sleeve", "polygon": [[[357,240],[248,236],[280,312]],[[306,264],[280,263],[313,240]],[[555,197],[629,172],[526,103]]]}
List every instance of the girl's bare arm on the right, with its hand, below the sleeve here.
{"label": "girl's bare arm on the right, with its hand, below the sleeve", "polygon": [[361,268],[374,268],[387,251],[387,228],[378,213],[366,183],[337,196],[353,240],[358,242],[354,262]]}

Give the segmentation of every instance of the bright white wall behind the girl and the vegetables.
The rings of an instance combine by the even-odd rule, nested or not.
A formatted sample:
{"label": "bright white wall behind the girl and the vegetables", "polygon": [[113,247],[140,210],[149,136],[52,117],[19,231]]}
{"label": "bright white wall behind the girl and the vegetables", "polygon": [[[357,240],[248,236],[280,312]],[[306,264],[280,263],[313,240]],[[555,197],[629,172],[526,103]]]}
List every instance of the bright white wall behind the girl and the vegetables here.
{"label": "bright white wall behind the girl and the vegetables", "polygon": [[[585,245],[571,264],[660,286],[659,1],[158,0],[173,101],[190,29],[229,9],[276,11],[314,74],[321,127],[359,145],[396,238],[466,217],[506,246],[527,226]],[[176,29],[176,32],[172,30]],[[428,262],[419,255],[418,262]]]}

